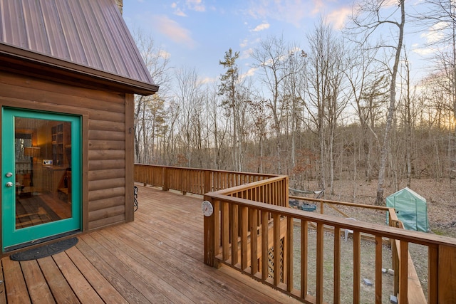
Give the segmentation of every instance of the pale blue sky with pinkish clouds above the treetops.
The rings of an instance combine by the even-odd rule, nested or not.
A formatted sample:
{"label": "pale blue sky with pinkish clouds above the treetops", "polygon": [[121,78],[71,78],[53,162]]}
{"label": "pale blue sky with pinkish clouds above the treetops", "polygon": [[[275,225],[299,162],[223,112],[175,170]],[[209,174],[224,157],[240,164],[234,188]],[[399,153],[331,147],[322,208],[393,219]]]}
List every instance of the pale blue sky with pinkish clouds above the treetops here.
{"label": "pale blue sky with pinkish clouds above the treetops", "polygon": [[[195,68],[209,83],[224,73],[219,61],[229,48],[239,51],[239,68],[248,74],[250,54],[261,39],[283,36],[305,49],[321,18],[341,29],[352,7],[348,0],[124,0],[123,18],[130,31],[153,38],[172,68]],[[415,38],[420,41],[410,48],[417,56],[425,36],[415,33]]]}

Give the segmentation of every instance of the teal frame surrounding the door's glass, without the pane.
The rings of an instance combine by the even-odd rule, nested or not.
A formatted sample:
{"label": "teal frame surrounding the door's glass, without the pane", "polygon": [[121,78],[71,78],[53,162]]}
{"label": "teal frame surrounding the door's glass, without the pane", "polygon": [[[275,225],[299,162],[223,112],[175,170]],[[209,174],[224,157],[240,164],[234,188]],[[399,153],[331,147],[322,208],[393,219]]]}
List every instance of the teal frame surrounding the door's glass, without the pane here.
{"label": "teal frame surrounding the door's glass, without the pane", "polygon": [[[16,181],[15,150],[14,150],[14,120],[15,117],[26,117],[42,120],[56,120],[71,122],[71,209],[72,217],[52,221],[46,224],[16,229],[16,189],[6,187],[6,183]],[[50,238],[81,231],[81,121],[79,115],[67,115],[55,112],[40,112],[35,110],[21,110],[16,108],[2,108],[2,140],[1,140],[1,229],[2,251],[11,251],[15,248],[28,246]],[[8,172],[12,175],[9,177]]]}

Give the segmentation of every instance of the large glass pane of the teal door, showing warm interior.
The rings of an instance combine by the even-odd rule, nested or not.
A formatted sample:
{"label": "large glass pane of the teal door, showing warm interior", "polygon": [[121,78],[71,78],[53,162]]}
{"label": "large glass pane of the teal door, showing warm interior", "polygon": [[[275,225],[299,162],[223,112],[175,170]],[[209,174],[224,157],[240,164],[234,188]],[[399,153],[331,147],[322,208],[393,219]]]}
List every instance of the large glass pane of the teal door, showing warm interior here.
{"label": "large glass pane of the teal door, showing warm interior", "polygon": [[72,217],[71,122],[16,117],[16,229]]}

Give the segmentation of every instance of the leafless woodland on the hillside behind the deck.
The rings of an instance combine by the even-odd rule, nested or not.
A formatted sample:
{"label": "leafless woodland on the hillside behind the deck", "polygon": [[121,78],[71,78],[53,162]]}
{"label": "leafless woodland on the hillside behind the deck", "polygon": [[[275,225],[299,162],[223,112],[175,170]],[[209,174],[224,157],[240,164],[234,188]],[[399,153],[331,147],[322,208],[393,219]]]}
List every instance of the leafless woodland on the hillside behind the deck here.
{"label": "leafless woodland on the hillside behind the deck", "polygon": [[[333,193],[336,180],[385,183],[456,177],[456,2],[359,1],[342,29],[324,18],[302,41],[270,36],[251,56],[220,54],[224,73],[172,68],[153,37],[133,36],[157,94],[135,96],[135,162],[286,174]],[[432,56],[414,70],[413,34]],[[419,73],[418,73],[419,72]],[[415,75],[419,74],[417,79]]]}

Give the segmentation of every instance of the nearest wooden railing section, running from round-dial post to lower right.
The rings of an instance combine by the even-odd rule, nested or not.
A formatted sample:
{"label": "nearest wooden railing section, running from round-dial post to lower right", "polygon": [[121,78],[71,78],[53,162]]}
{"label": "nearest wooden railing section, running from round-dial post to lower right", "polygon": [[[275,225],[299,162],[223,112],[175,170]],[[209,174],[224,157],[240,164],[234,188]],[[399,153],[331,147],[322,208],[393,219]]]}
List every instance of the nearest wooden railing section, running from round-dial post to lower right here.
{"label": "nearest wooden railing section, running from round-dial post to lower right", "polygon": [[[399,303],[407,303],[409,298],[409,243],[418,243],[420,245],[427,246],[429,250],[428,302],[451,303],[451,301],[454,300],[454,298],[449,298],[454,297],[451,291],[455,286],[455,282],[450,279],[452,277],[452,273],[448,273],[448,269],[445,269],[445,266],[441,265],[441,263],[453,263],[449,258],[456,257],[455,239],[432,234],[423,234],[417,231],[408,231],[390,226],[380,226],[378,224],[371,224],[362,221],[350,221],[336,216],[314,214],[283,206],[261,204],[256,201],[229,197],[222,194],[208,193],[204,195],[204,199],[212,201],[212,204],[214,205],[214,214],[220,214],[220,216],[204,218],[204,239],[213,240],[213,242],[207,244],[207,248],[206,244],[204,246],[204,263],[207,263],[209,266],[217,266],[217,263],[225,263],[229,266],[237,268],[242,273],[252,276],[252,278],[256,278],[257,280],[271,285],[284,293],[288,293],[294,298],[303,300],[305,303],[322,303],[323,280],[331,279],[333,280],[334,285],[334,303],[338,303],[338,301],[340,301],[340,298],[338,297],[340,296],[341,281],[340,273],[337,269],[340,269],[341,266],[340,256],[337,257],[337,255],[335,255],[335,278],[323,278],[323,259],[317,258],[316,298],[312,298],[307,295],[306,269],[304,269],[303,273],[301,273],[301,290],[295,290],[293,287],[293,276],[276,278],[276,276],[273,275],[273,278],[269,278],[271,273],[267,273],[267,276],[265,276],[265,259],[263,259],[261,265],[253,266],[252,268],[252,265],[254,265],[253,263],[257,263],[252,259],[252,256],[264,256],[267,252],[264,248],[262,248],[262,245],[259,244],[261,241],[254,241],[256,238],[249,237],[248,231],[254,231],[255,229],[252,227],[258,225],[258,231],[261,231],[261,233],[259,232],[261,235],[259,238],[263,240],[262,243],[266,243],[264,240],[269,239],[267,234],[270,233],[270,231],[273,231],[274,248],[276,248],[276,244],[281,242],[281,236],[285,235],[286,241],[284,241],[284,243],[286,244],[286,248],[284,248],[284,253],[280,257],[276,257],[274,255],[274,260],[276,258],[276,261],[280,261],[282,259],[283,262],[281,262],[281,267],[283,267],[284,270],[281,270],[281,273],[293,273],[293,247],[291,245],[293,243],[293,236],[288,231],[291,231],[291,226],[297,220],[300,221],[301,229],[303,229],[301,234],[301,243],[303,244],[306,244],[307,242],[305,231],[307,231],[309,223],[316,223],[316,250],[318,257],[323,254],[323,226],[332,226],[335,231],[334,236],[337,236],[341,229],[350,229],[353,231],[353,303],[359,303],[358,301],[360,300],[361,271],[359,269],[361,268],[361,234],[371,234],[376,240],[375,303],[381,303],[382,295],[381,246],[383,238],[393,239],[395,243],[398,244],[398,248],[400,248],[398,251],[399,256],[396,260],[398,262],[398,278],[400,280],[398,283]],[[283,229],[281,228],[283,227],[280,223],[281,219],[286,221],[286,231],[281,231],[281,229]],[[231,230],[232,228],[230,228],[230,226],[234,226],[236,228]],[[273,226],[273,228],[269,229],[269,226]],[[238,233],[238,229],[241,233]],[[241,254],[240,258],[236,258],[235,261],[233,261],[233,253],[230,250],[230,248],[234,246],[234,243],[227,241],[227,239],[239,239],[239,241],[236,241],[236,244],[240,243],[239,251]],[[301,250],[301,261],[304,261],[304,264],[307,261],[306,250],[306,246],[303,246]],[[340,252],[340,250],[340,237],[334,237],[334,251]],[[261,254],[259,251],[262,251]],[[441,254],[445,256],[443,260],[440,258]],[[248,256],[251,257],[250,261],[247,261]],[[274,269],[273,273],[279,272],[278,269],[279,268]],[[450,279],[451,283],[448,282],[447,279]],[[449,289],[441,288],[441,285],[438,286],[438,283],[435,283],[436,281],[444,282]]]}

